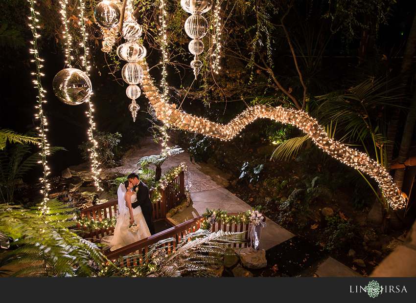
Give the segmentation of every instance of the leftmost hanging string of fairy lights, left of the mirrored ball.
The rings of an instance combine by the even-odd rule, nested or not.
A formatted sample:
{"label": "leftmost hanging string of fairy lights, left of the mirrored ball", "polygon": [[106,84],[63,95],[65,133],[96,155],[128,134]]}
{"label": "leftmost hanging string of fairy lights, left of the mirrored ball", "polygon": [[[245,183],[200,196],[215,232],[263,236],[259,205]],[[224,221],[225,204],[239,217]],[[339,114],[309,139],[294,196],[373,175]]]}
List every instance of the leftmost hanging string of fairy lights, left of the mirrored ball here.
{"label": "leftmost hanging string of fairy lights, left of the mirrored ball", "polygon": [[41,193],[43,194],[44,197],[43,197],[41,206],[39,207],[39,210],[42,212],[43,215],[45,215],[48,212],[48,207],[46,205],[46,202],[49,200],[47,196],[48,196],[49,189],[50,189],[50,184],[46,180],[47,175],[50,173],[49,172],[50,169],[47,166],[46,156],[50,155],[50,151],[49,151],[49,144],[47,143],[47,140],[46,140],[47,121],[46,121],[46,117],[44,115],[43,108],[42,108],[42,104],[46,103],[46,100],[43,99],[45,98],[44,93],[46,92],[46,90],[42,87],[42,83],[41,83],[41,76],[44,76],[44,74],[41,73],[41,68],[43,67],[42,62],[44,62],[44,60],[39,58],[39,52],[38,52],[38,38],[40,37],[40,35],[37,33],[36,28],[40,28],[40,26],[37,25],[37,22],[39,22],[39,20],[37,19],[37,15],[39,15],[39,13],[36,12],[34,8],[35,6],[34,3],[36,3],[36,1],[28,0],[28,2],[30,3],[30,17],[28,18],[31,22],[29,23],[29,27],[32,30],[32,34],[33,34],[33,41],[31,42],[33,45],[33,49],[30,49],[30,53],[32,53],[35,58],[34,60],[31,60],[31,62],[36,63],[36,73],[32,73],[32,75],[36,75],[36,80],[33,80],[33,83],[35,84],[35,88],[38,90],[38,96],[37,96],[38,105],[36,106],[36,108],[39,109],[39,113],[35,114],[35,118],[40,120],[40,126],[37,127],[36,129],[39,131],[39,136],[42,138],[42,140],[39,143],[39,147],[42,149],[41,151],[42,160],[39,161],[39,163],[42,163],[44,167],[44,175],[42,178],[40,178],[41,183],[42,183]]}

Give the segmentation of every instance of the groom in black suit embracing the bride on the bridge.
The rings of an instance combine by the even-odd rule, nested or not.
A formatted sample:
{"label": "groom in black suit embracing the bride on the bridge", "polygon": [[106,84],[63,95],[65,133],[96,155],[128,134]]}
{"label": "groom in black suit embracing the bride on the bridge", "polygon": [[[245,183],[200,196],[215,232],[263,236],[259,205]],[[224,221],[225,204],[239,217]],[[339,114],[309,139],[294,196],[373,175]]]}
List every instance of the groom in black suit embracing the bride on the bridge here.
{"label": "groom in black suit embracing the bride on the bridge", "polygon": [[146,220],[147,227],[149,228],[150,234],[155,234],[155,226],[153,225],[153,205],[150,201],[149,189],[146,184],[140,181],[137,173],[130,173],[127,176],[130,183],[133,184],[133,191],[137,192],[137,201],[132,203],[132,207],[141,207],[144,219]]}

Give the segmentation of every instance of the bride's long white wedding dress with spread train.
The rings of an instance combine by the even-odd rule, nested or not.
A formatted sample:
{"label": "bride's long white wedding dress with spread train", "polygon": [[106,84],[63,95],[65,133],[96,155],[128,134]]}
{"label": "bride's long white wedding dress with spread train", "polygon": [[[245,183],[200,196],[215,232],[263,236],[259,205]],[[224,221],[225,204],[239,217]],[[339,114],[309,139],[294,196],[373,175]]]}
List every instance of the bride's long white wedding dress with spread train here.
{"label": "bride's long white wedding dress with spread train", "polygon": [[[136,199],[136,194],[133,194],[131,196],[132,203],[135,202]],[[121,210],[122,214],[120,213],[118,215],[116,227],[114,228],[114,235],[104,237],[101,239],[101,243],[107,244],[110,247],[111,251],[114,251],[118,248],[121,248],[123,246],[129,245],[131,243],[134,243],[136,241],[150,236],[149,228],[147,227],[146,221],[144,220],[144,216],[141,212],[140,206],[133,208],[133,217],[135,219],[135,223],[139,227],[139,230],[136,234],[133,234],[128,230],[130,225],[129,208],[125,206],[124,208],[121,208]]]}

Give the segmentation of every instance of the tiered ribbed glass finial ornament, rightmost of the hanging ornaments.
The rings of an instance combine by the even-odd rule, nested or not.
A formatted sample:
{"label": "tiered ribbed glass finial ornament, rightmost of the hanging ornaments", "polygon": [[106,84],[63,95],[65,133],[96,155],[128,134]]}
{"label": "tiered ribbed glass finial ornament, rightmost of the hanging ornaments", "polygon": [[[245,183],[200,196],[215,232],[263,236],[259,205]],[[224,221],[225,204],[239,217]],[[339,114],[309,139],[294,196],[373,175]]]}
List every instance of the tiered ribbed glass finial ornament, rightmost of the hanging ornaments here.
{"label": "tiered ribbed glass finial ornament, rightmost of the hanging ornaments", "polygon": [[202,62],[198,55],[202,54],[205,45],[202,38],[208,33],[208,21],[201,14],[208,12],[212,7],[212,0],[181,0],[181,6],[191,16],[185,21],[185,32],[192,40],[188,44],[189,52],[194,55],[190,66],[193,68],[195,79],[198,77]]}

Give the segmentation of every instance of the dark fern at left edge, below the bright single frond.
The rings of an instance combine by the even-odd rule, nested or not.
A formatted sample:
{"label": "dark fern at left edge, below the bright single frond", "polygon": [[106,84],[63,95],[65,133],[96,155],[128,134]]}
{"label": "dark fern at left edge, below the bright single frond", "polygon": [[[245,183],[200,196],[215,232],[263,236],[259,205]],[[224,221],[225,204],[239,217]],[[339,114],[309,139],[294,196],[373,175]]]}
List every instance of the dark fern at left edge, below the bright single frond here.
{"label": "dark fern at left edge, below the bright single frond", "polygon": [[[7,145],[0,150],[0,194],[1,199],[6,202],[13,202],[16,180],[23,178],[33,169],[38,162],[42,161],[41,151],[32,153],[32,147],[19,136],[20,142]],[[30,138],[30,136],[28,136]],[[18,141],[19,142],[19,141]],[[27,142],[31,142],[29,139]],[[49,148],[50,154],[56,151],[65,150],[62,147]]]}

